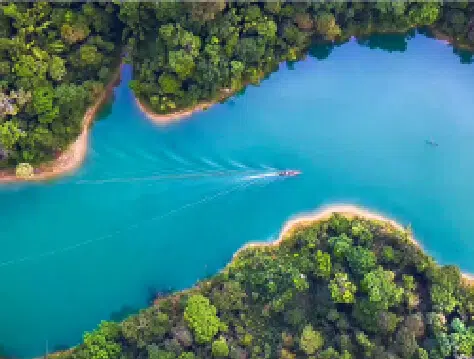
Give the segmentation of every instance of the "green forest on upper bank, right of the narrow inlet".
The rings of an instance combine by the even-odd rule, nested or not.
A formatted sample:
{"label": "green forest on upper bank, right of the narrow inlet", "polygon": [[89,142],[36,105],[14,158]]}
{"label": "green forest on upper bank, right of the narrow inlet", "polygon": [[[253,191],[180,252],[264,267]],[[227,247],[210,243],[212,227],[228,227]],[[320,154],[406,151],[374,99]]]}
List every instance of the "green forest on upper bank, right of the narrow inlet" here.
{"label": "green forest on upper bank, right of the narrow inlet", "polygon": [[133,49],[131,87],[158,113],[258,83],[280,62],[301,58],[314,41],[328,43],[314,54],[319,58],[351,36],[428,25],[459,44],[474,42],[474,4],[467,1],[128,3],[120,18]]}

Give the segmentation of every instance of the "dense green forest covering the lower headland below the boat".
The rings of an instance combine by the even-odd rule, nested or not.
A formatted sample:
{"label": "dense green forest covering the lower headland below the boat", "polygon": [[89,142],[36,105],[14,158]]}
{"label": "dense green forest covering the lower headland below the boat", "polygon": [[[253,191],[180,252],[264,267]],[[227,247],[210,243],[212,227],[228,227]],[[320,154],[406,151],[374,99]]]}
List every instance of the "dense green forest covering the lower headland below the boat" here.
{"label": "dense green forest covering the lower headland below the boat", "polygon": [[58,358],[468,358],[473,315],[474,288],[407,232],[333,215],[279,246],[241,251],[214,278],[122,323],[102,323]]}

